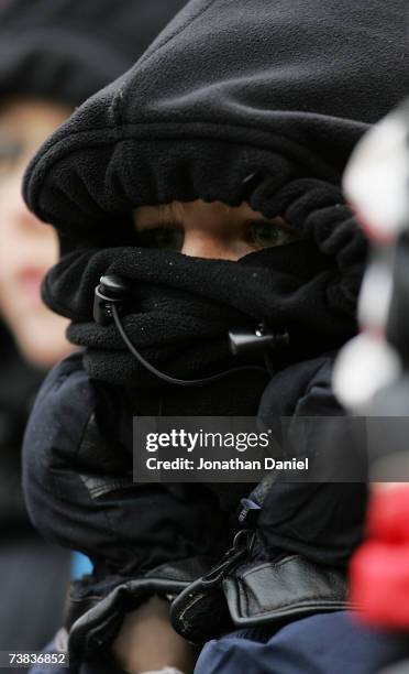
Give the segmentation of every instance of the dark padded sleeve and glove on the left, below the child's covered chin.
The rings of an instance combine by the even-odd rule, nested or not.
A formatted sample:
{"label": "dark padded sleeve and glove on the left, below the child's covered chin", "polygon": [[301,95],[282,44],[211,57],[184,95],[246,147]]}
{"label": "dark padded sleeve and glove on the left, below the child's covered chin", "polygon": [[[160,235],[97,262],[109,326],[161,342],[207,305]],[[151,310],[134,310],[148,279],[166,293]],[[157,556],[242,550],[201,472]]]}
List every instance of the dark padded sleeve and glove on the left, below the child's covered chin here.
{"label": "dark padded sleeve and glove on the left, below the child's covered chin", "polygon": [[93,564],[92,575],[71,588],[68,627],[77,651],[112,639],[124,611],[146,595],[178,593],[211,566],[220,552],[214,542],[223,545],[211,492],[133,482],[113,393],[89,380],[80,354],[70,356],[44,381],[24,438],[34,525]]}

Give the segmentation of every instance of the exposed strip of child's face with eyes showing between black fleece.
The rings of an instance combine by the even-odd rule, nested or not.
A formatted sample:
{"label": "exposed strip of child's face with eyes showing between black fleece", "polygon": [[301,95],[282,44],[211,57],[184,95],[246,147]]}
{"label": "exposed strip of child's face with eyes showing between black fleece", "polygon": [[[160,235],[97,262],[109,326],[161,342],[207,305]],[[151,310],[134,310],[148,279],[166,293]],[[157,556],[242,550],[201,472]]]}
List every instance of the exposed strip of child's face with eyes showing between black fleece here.
{"label": "exposed strip of child's face with eyes showing between black fleece", "polygon": [[141,246],[218,260],[239,260],[256,250],[285,246],[298,238],[283,218],[266,219],[245,203],[230,207],[198,199],[142,206],[134,213],[134,222]]}

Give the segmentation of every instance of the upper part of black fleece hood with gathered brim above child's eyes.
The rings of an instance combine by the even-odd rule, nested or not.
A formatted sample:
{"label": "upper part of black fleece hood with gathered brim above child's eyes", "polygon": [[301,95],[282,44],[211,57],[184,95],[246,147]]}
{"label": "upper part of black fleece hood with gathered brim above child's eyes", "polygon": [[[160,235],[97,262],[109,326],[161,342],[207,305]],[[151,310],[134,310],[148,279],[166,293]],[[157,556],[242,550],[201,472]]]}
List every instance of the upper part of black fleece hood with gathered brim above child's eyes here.
{"label": "upper part of black fleece hood with gathered brim above child's eyes", "polygon": [[405,0],[194,0],[42,148],[25,198],[81,238],[174,199],[276,215],[295,175],[338,183],[407,93],[406,13]]}

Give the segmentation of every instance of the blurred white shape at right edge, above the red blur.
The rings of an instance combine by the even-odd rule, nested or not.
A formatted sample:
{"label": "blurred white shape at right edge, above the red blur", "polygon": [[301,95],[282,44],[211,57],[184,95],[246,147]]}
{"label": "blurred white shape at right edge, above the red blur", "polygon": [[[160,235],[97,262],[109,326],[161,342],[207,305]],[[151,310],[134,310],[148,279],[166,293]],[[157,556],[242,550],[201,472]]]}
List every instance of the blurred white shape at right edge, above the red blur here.
{"label": "blurred white shape at right edge, above the red blur", "polygon": [[344,173],[345,195],[373,242],[358,302],[363,333],[341,350],[333,385],[340,402],[371,414],[374,395],[402,374],[402,362],[385,338],[394,293],[396,242],[408,228],[409,99],[356,145]]}

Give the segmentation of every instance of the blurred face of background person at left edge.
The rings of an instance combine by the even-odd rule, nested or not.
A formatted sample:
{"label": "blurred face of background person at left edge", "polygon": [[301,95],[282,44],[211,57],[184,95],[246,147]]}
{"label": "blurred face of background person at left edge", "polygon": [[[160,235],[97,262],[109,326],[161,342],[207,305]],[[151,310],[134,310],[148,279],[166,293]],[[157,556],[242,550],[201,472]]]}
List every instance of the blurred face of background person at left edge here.
{"label": "blurred face of background person at left edge", "polygon": [[67,322],[40,296],[42,279],[58,259],[57,238],[27,210],[21,185],[38,145],[69,113],[65,106],[25,99],[0,108],[0,315],[23,357],[44,369],[70,350]]}

